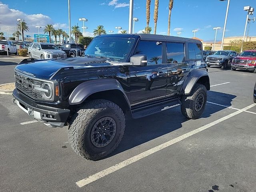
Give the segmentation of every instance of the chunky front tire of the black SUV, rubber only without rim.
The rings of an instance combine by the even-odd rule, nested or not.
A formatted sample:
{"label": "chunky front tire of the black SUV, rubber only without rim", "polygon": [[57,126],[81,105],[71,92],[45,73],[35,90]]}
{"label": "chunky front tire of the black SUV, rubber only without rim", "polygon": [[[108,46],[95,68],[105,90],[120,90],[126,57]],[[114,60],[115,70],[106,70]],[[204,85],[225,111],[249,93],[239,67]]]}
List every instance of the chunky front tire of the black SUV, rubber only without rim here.
{"label": "chunky front tire of the black SUV, rubber only without rim", "polygon": [[[111,117],[116,123],[113,140],[104,147],[96,147],[91,141],[94,124],[103,118]],[[125,117],[122,109],[115,103],[98,99],[86,102],[77,109],[70,121],[68,140],[72,149],[88,160],[99,160],[112,153],[121,142],[125,129]]]}

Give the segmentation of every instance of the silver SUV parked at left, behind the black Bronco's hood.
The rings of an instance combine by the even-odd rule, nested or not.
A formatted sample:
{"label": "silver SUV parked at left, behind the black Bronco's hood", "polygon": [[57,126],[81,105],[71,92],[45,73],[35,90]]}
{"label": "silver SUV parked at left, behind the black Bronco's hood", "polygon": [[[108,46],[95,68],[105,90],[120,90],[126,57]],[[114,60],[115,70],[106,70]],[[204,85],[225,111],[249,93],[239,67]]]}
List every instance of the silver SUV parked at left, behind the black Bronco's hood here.
{"label": "silver SUV parked at left, behind the black Bronco's hood", "polygon": [[31,43],[28,47],[28,56],[29,58],[36,59],[60,59],[67,57],[64,51],[52,43],[36,42]]}

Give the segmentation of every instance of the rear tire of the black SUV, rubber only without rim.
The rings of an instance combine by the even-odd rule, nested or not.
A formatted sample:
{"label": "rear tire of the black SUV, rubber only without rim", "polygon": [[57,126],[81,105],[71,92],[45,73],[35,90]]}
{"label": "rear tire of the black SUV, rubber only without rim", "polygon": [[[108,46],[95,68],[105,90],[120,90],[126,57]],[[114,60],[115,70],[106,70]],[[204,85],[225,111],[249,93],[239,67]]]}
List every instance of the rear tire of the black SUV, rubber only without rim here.
{"label": "rear tire of the black SUV, rubber only without rim", "polygon": [[[203,106],[199,111],[195,110],[195,101],[197,96],[202,93],[204,95]],[[204,112],[207,101],[207,90],[202,84],[196,83],[189,95],[184,95],[181,98],[180,110],[186,118],[198,119]]]}

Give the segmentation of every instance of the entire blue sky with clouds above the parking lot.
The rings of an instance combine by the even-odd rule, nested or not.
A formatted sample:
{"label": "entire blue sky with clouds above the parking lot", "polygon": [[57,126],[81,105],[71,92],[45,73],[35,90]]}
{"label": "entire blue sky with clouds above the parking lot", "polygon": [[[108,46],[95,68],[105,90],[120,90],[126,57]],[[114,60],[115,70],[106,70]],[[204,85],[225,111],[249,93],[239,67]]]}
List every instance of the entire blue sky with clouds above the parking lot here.
{"label": "entire blue sky with clouds above the parking lot", "polygon": [[[166,34],[168,26],[168,0],[159,0],[159,13],[157,34]],[[40,3],[41,2],[41,3]],[[36,25],[44,26],[46,23],[54,24],[68,31],[68,0],[0,0],[0,28],[10,34],[14,31],[17,17],[26,18],[30,26],[28,34],[36,33]],[[115,26],[122,26],[128,30],[129,0],[70,0],[71,25],[81,27],[78,18],[88,19],[87,35],[92,35],[97,25],[103,25],[108,30]],[[174,0],[171,18],[171,34],[177,36],[177,31],[182,30],[181,36],[191,38],[192,30],[198,29],[196,37],[203,40],[213,40],[213,27],[224,26],[227,1],[220,0]],[[242,36],[246,20],[244,6],[256,8],[256,0],[230,0],[230,9],[226,27],[226,37]],[[139,18],[135,24],[135,32],[146,26],[146,0],[134,0],[134,17]],[[9,10],[8,10],[9,9]],[[150,26],[154,28],[154,0],[151,2]],[[255,12],[256,16],[256,12]],[[250,36],[256,36],[256,22],[251,24]],[[222,37],[222,30],[218,31],[217,39]]]}

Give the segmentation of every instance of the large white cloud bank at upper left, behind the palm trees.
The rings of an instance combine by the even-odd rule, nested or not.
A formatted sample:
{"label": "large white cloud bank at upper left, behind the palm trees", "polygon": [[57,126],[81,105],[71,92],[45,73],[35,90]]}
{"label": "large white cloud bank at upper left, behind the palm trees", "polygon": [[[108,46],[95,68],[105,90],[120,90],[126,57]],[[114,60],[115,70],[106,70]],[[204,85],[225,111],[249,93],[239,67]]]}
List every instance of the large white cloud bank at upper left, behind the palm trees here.
{"label": "large white cloud bank at upper left, behind the palm trees", "polygon": [[[20,10],[11,9],[7,4],[0,2],[0,13],[1,13],[1,31],[7,36],[8,27],[10,36],[14,30],[16,30],[17,18],[25,20],[28,24],[29,32],[24,32],[24,35],[33,35],[38,33],[36,26],[46,26],[46,24],[53,24],[56,28],[67,28],[67,24],[54,23],[49,16],[43,14],[26,14]],[[40,29],[40,33],[43,33],[43,29]]]}

